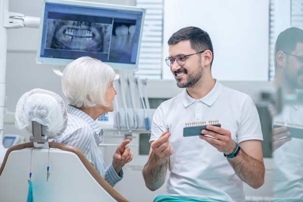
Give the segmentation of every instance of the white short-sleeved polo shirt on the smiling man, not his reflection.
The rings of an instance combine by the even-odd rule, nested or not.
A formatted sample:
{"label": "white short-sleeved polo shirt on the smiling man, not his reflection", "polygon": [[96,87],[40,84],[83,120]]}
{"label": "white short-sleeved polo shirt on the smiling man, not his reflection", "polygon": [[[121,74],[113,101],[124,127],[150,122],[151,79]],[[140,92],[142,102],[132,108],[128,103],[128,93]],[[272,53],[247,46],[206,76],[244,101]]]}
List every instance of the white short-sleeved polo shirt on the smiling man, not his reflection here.
{"label": "white short-sleeved polo shirt on the smiling man, not his reflection", "polygon": [[150,141],[157,140],[167,130],[167,124],[171,132],[173,154],[167,195],[197,201],[243,202],[243,183],[223,153],[198,136],[183,137],[185,123],[209,120],[219,120],[235,142],[263,140],[258,111],[249,95],[218,81],[199,100],[184,89],[163,102],[152,118]]}

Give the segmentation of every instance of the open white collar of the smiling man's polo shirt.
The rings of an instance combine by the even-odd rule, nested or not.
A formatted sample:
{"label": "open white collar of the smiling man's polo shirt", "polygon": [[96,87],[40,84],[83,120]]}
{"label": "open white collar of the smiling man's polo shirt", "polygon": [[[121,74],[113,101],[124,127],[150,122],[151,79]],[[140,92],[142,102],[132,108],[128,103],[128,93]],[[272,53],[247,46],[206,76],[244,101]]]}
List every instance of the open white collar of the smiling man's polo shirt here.
{"label": "open white collar of the smiling man's polo shirt", "polygon": [[[216,101],[216,99],[219,97],[219,95],[223,89],[222,84],[219,83],[217,80],[215,80],[215,81],[216,81],[216,83],[215,83],[214,87],[212,88],[212,90],[204,97],[198,99],[199,101],[203,102],[204,104],[208,105],[209,107],[212,106],[212,104]],[[191,104],[193,104],[195,101],[197,101],[197,100],[192,98],[191,96],[189,96],[186,89],[182,92],[182,103],[185,108],[190,106]]]}

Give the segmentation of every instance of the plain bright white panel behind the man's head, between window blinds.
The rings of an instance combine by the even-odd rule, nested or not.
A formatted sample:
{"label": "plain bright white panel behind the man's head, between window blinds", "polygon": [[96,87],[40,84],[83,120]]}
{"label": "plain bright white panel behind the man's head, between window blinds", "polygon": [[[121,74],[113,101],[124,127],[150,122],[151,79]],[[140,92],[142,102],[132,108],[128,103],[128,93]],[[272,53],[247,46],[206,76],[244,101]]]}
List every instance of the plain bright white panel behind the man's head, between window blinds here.
{"label": "plain bright white panel behind the man's head, between window blinds", "polygon": [[[268,81],[269,0],[164,2],[163,58],[167,57],[167,41],[172,33],[196,26],[212,39],[214,78]],[[169,68],[164,68],[164,78],[172,78]]]}

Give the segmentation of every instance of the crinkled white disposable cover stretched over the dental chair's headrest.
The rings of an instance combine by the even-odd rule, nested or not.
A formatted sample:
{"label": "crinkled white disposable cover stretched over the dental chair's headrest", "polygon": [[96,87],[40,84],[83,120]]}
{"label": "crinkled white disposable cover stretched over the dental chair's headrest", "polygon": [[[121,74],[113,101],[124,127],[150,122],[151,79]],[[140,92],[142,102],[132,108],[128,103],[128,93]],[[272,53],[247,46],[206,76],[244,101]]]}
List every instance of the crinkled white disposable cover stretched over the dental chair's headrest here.
{"label": "crinkled white disposable cover stretched over the dental chair's headrest", "polygon": [[54,92],[38,88],[24,93],[16,105],[15,126],[31,133],[32,121],[45,125],[44,135],[56,139],[67,125],[63,99]]}

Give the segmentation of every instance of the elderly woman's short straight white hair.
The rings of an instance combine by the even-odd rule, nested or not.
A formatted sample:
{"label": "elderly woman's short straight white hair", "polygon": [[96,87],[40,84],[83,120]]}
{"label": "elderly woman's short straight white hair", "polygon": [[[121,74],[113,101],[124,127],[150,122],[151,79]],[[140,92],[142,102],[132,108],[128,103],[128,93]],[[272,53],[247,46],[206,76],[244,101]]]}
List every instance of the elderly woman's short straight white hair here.
{"label": "elderly woman's short straight white hair", "polygon": [[76,108],[106,107],[106,88],[114,79],[115,71],[109,65],[84,56],[65,67],[62,91]]}

